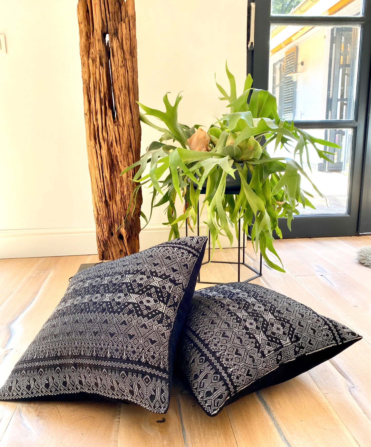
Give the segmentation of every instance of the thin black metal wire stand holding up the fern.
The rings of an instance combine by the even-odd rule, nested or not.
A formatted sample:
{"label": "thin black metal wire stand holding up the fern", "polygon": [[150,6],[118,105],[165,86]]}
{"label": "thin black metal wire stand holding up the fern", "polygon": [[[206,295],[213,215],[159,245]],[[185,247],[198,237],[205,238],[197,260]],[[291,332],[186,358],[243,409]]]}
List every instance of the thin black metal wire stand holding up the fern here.
{"label": "thin black metal wire stand holding up the fern", "polygon": [[[234,179],[233,179],[234,180]],[[226,186],[225,189],[225,193],[226,194],[239,194],[240,193],[240,189],[236,189],[236,186],[238,185],[231,185],[228,187],[228,185]],[[187,187],[187,192],[186,195],[188,194],[189,191],[189,186]],[[201,194],[205,194],[206,193],[206,189],[202,188],[201,190]],[[185,198],[187,200],[187,197]],[[198,202],[198,207],[197,207],[197,236],[200,235],[200,211],[199,211],[199,202]],[[185,236],[188,236],[188,221],[185,222]],[[259,268],[256,269],[253,266],[249,266],[249,264],[246,264],[245,262],[245,232],[242,231],[242,238],[243,238],[243,242],[242,242],[242,262],[241,262],[241,219],[238,220],[238,255],[237,255],[237,261],[214,261],[211,259],[211,235],[210,235],[210,230],[208,229],[208,238],[209,238],[209,246],[208,246],[208,260],[202,262],[202,266],[204,266],[205,264],[209,264],[209,263],[216,263],[216,264],[235,264],[237,265],[237,282],[238,283],[249,283],[249,281],[252,281],[255,278],[259,278],[261,276],[261,267],[262,267],[262,257],[261,257],[261,253],[260,253],[260,257],[257,259],[257,261],[259,262]],[[246,240],[251,240],[251,236],[249,234],[246,234]],[[248,269],[252,270],[255,274],[248,279],[245,279],[244,281],[241,281],[241,266],[247,267]],[[198,272],[198,277],[197,277],[197,283],[198,284],[224,284],[224,283],[219,283],[219,282],[215,282],[215,281],[201,281],[201,274],[200,272]]]}

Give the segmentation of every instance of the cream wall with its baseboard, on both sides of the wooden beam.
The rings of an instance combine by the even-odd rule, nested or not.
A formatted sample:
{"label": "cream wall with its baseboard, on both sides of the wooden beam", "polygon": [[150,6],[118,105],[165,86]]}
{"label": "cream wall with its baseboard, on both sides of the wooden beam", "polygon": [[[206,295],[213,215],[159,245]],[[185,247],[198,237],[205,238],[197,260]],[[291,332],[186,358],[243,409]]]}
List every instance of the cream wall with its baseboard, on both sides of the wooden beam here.
{"label": "cream wall with its baseboard, on both sides of the wooden beam", "polygon": [[[181,122],[224,111],[214,73],[241,88],[246,1],[137,0],[139,100],[160,108],[183,90]],[[0,0],[0,257],[96,253],[86,156],[76,0]],[[227,82],[226,82],[227,81]],[[142,148],[156,139],[143,127]],[[143,211],[149,197],[144,192]],[[167,235],[156,210],[141,248]]]}

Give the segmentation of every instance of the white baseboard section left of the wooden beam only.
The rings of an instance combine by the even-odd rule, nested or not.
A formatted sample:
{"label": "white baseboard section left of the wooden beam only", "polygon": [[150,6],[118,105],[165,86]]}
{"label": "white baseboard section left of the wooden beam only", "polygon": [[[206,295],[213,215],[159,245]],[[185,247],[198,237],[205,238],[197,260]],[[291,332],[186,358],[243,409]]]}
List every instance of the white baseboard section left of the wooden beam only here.
{"label": "white baseboard section left of the wooden beam only", "polygon": [[0,258],[97,254],[95,227],[0,231]]}

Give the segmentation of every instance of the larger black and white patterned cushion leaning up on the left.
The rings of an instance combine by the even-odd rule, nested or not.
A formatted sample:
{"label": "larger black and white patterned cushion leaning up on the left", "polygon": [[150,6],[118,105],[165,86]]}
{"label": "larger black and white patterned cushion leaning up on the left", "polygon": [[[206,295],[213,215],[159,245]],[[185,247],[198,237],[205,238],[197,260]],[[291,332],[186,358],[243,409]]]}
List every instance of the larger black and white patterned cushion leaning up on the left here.
{"label": "larger black and white patterned cushion leaning up on the left", "polygon": [[75,274],[0,400],[82,392],[165,413],[206,240],[171,240]]}

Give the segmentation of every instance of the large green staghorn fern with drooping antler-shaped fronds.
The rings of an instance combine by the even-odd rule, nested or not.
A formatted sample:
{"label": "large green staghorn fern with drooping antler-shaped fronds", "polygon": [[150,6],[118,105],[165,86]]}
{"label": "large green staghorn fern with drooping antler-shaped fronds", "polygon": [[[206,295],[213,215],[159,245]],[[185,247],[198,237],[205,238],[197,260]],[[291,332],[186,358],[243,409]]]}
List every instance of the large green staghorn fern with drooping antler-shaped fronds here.
{"label": "large green staghorn fern with drooping antler-shaped fronds", "polygon": [[[135,203],[139,188],[147,185],[152,189],[151,215],[153,207],[167,204],[167,222],[164,225],[170,226],[169,240],[179,237],[179,228],[184,223],[191,229],[192,222],[195,225],[198,200],[202,186],[206,183],[202,208],[207,208],[206,224],[211,233],[213,253],[217,244],[221,247],[219,235],[227,236],[232,245],[231,228],[237,234],[238,220],[242,218],[243,231],[247,234],[251,228],[256,252],[260,248],[270,267],[284,271],[273,246],[273,232],[282,237],[278,218],[287,218],[287,226],[291,229],[293,215],[299,214],[299,203],[303,207],[315,208],[308,200],[308,196],[313,197],[312,194],[300,187],[302,175],[310,181],[303,169],[303,157],[310,167],[308,146],[312,145],[320,159],[331,161],[326,156],[331,152],[317,145],[339,146],[315,138],[295,127],[293,122],[279,118],[274,95],[266,90],[253,89],[250,75],[245,80],[243,93],[237,97],[236,81],[227,64],[226,72],[230,94],[218,83],[216,85],[223,95],[219,99],[228,101],[230,113],[212,124],[207,132],[198,125],[188,127],[178,122],[180,95],[177,95],[175,104],[171,105],[168,93],[165,94],[165,112],[139,103],[145,112],[140,114],[141,121],[163,135],[159,141],[153,141],[140,160],[122,174],[139,166],[133,177],[138,186],[131,200]],[[163,127],[153,124],[148,116],[158,118],[163,122]],[[178,144],[167,144],[169,140]],[[274,152],[286,149],[294,155],[294,159],[271,157],[267,152],[268,144],[274,145]],[[147,164],[149,173],[141,177]],[[239,194],[225,193],[227,176],[240,177]],[[324,197],[313,183],[312,186]],[[185,201],[181,215],[177,215],[175,207],[177,196],[181,202]],[[156,201],[157,197],[160,200]],[[151,215],[149,219],[143,213],[141,215],[147,224]],[[279,259],[281,266],[270,260],[268,252]]]}

